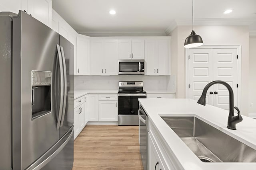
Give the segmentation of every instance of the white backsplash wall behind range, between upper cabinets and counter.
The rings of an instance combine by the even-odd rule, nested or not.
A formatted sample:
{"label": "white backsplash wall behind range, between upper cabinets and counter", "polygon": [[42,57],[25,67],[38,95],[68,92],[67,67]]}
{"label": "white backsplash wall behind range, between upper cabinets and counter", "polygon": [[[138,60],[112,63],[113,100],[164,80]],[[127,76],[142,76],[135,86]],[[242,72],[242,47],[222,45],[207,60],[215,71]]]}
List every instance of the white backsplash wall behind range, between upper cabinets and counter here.
{"label": "white backsplash wall behind range, between upper cabinets and counter", "polygon": [[[119,81],[143,81],[144,90],[170,90],[173,88],[173,76],[75,76],[74,90],[118,90]],[[170,86],[170,87],[168,87]],[[175,86],[174,86],[175,87]]]}

